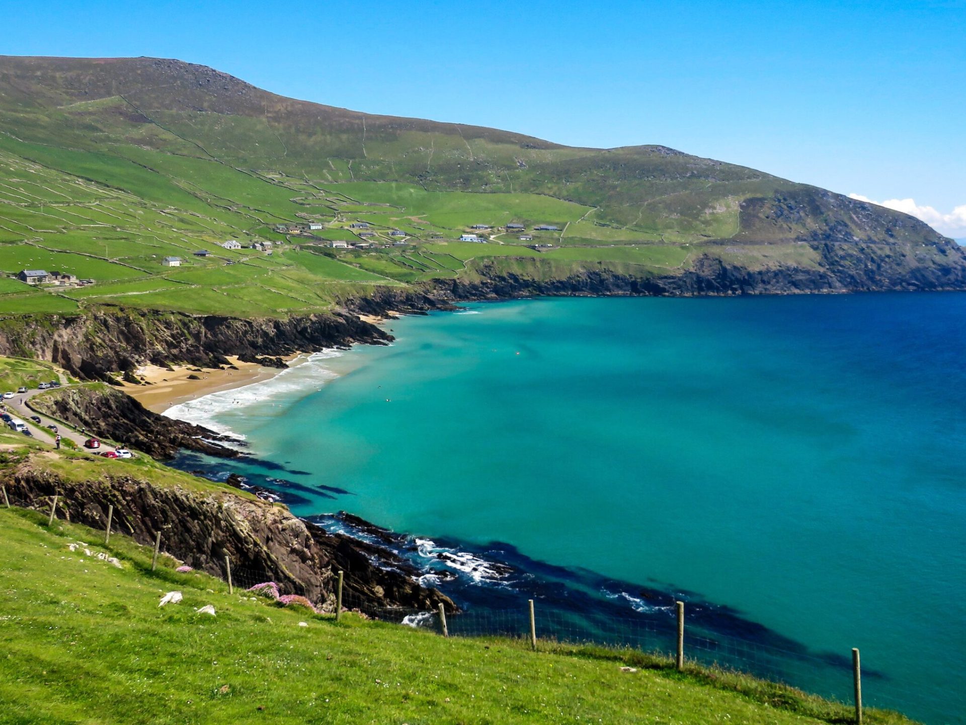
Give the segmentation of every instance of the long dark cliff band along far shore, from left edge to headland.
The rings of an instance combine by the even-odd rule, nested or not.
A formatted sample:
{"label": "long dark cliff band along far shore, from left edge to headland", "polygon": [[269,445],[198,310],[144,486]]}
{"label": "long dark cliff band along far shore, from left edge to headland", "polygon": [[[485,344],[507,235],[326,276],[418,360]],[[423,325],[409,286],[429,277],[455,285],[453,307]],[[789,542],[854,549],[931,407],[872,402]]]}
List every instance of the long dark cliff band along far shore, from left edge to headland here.
{"label": "long dark cliff band along far shore, from left edge to headland", "polygon": [[671,296],[927,291],[966,288],[966,252],[951,240],[933,245],[904,242],[802,241],[809,264],[775,261],[757,267],[721,255],[702,254],[686,269],[639,265],[564,265],[544,257],[470,260],[466,274],[415,287],[373,286],[341,300],[342,309],[288,317],[189,315],[125,307],[100,307],[78,315],[17,315],[0,318],[0,355],[41,359],[83,380],[108,381],[109,373],[148,362],[204,367],[226,356],[282,365],[279,356],[385,344],[390,333],[359,314],[410,314],[449,309],[469,300],[537,295]]}

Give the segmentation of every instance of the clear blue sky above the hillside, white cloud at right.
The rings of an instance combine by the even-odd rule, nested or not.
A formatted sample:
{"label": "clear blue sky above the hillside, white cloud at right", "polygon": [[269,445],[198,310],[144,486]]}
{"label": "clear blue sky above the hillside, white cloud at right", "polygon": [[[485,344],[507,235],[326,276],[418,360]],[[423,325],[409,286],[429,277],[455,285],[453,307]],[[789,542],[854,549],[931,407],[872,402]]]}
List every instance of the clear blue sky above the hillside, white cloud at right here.
{"label": "clear blue sky above the hillside, white cloud at right", "polygon": [[6,54],[175,57],[373,113],[661,143],[966,237],[966,0],[0,0],[0,17]]}

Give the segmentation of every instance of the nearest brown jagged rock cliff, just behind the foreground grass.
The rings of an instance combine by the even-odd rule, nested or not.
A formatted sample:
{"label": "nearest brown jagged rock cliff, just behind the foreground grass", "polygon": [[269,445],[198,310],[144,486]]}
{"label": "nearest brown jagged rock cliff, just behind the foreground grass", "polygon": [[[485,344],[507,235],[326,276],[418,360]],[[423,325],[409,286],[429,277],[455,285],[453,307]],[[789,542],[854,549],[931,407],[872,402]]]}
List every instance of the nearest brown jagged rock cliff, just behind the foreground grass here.
{"label": "nearest brown jagged rock cliff, just behind the foreground grass", "polygon": [[225,556],[233,568],[258,572],[290,591],[333,606],[336,572],[345,572],[347,600],[371,606],[422,610],[452,601],[412,580],[412,566],[394,554],[348,536],[328,534],[285,507],[248,498],[230,489],[192,490],[157,484],[147,477],[109,475],[76,479],[53,472],[32,457],[0,470],[11,504],[47,510],[60,496],[61,517],[103,529],[114,506],[112,528],[142,544],[154,544],[185,564],[224,576]]}

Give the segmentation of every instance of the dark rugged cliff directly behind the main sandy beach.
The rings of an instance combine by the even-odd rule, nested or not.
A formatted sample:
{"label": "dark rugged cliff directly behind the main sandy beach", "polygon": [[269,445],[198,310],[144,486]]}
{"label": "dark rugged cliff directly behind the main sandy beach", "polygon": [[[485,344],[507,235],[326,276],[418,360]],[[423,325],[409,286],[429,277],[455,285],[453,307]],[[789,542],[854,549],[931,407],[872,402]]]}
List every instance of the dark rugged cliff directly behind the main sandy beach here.
{"label": "dark rugged cliff directly behind the main sandy beach", "polygon": [[254,361],[389,339],[342,312],[248,319],[117,307],[0,318],[0,355],[54,362],[84,380],[105,380],[110,372],[148,362],[217,367],[228,363],[228,355]]}

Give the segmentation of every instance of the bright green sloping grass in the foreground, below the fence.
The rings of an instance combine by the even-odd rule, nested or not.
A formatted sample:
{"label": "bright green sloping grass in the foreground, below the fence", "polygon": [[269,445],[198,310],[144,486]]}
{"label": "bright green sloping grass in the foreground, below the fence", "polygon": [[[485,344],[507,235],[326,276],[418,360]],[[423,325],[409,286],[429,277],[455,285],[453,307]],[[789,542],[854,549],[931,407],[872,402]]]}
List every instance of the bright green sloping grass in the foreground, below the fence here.
{"label": "bright green sloping grass in the foreground, below the fence", "polygon": [[[0,722],[817,723],[848,710],[641,654],[450,639],[250,601],[112,536],[0,508]],[[180,604],[157,608],[180,590]],[[194,609],[213,604],[216,617]],[[307,627],[298,626],[308,623]],[[635,673],[620,666],[639,667]],[[655,668],[655,669],[649,669]],[[740,691],[735,691],[740,690]],[[907,723],[869,711],[869,723]]]}

